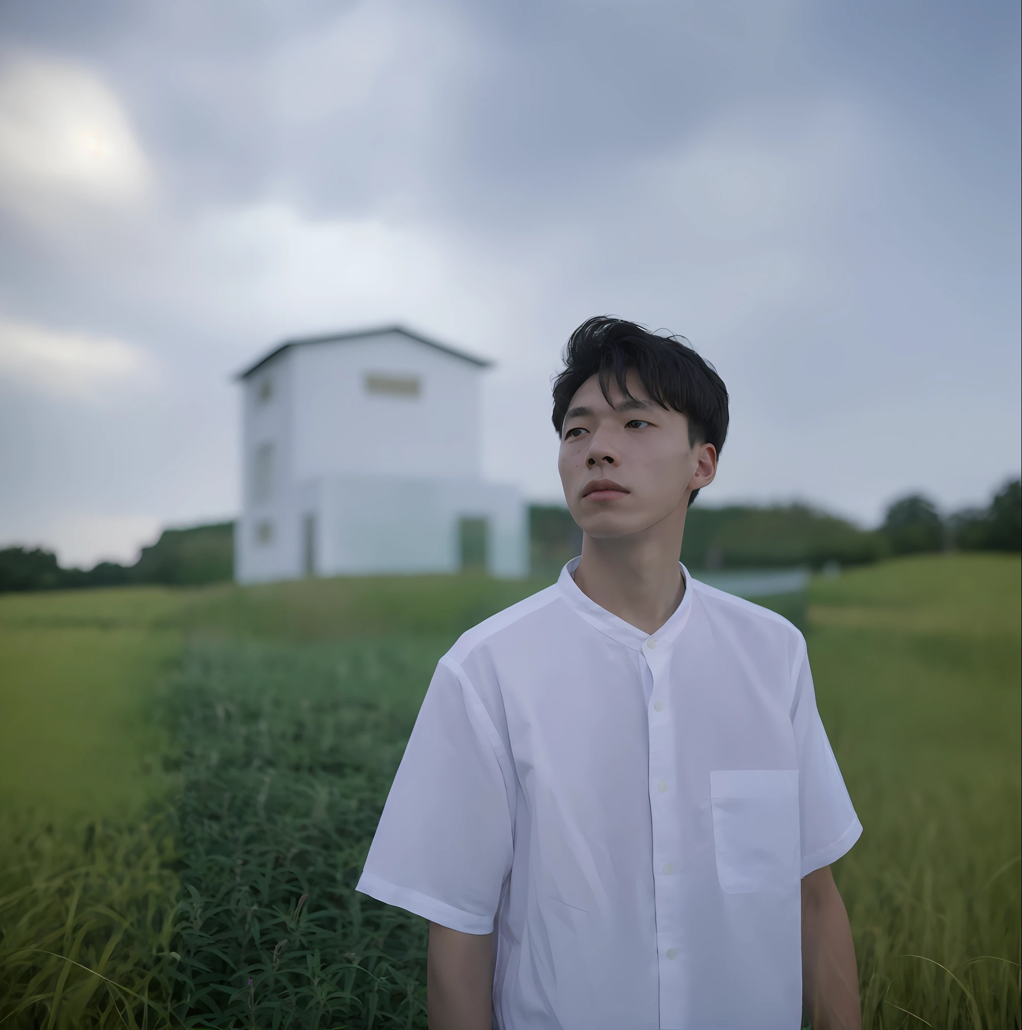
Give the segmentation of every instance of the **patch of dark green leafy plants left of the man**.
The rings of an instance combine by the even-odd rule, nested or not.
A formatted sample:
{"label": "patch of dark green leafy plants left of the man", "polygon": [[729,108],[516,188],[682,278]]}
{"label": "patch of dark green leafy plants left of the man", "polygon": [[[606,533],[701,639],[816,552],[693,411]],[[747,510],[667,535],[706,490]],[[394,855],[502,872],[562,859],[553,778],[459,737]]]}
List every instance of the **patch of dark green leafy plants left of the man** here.
{"label": "patch of dark green leafy plants left of the man", "polygon": [[168,697],[184,1026],[425,1026],[424,922],[354,885],[444,643],[189,651]]}

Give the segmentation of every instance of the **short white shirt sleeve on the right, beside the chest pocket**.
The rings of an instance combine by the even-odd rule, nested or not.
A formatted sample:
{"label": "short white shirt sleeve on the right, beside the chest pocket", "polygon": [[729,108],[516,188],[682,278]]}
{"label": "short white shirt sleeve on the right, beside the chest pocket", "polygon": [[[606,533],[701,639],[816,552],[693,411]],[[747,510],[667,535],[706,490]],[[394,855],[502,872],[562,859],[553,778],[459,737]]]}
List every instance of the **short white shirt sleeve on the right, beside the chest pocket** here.
{"label": "short white shirt sleeve on the right, beside the chest pocket", "polygon": [[802,876],[836,862],[862,832],[816,709],[816,693],[805,641],[795,680],[791,722],[798,754],[802,816]]}

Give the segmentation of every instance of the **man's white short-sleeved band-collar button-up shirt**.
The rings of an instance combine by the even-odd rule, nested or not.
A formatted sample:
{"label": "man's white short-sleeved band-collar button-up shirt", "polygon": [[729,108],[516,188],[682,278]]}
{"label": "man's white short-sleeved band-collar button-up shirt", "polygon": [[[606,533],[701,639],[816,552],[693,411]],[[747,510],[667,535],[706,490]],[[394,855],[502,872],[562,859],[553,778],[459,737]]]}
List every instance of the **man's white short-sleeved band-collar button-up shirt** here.
{"label": "man's white short-sleeved band-collar button-up shirt", "polygon": [[496,931],[500,1030],[797,1030],[799,879],[862,830],[806,643],[684,570],[647,636],[577,562],[440,659],[359,890]]}

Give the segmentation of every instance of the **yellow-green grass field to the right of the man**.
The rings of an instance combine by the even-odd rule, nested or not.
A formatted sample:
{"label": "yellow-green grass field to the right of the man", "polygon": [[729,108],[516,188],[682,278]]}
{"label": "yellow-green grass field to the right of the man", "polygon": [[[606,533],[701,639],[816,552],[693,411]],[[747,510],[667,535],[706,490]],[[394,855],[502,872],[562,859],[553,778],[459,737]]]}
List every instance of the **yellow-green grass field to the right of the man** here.
{"label": "yellow-green grass field to the right of the man", "polygon": [[866,1026],[1019,1025],[1019,598],[999,556],[814,584],[820,709],[864,826],[836,876]]}

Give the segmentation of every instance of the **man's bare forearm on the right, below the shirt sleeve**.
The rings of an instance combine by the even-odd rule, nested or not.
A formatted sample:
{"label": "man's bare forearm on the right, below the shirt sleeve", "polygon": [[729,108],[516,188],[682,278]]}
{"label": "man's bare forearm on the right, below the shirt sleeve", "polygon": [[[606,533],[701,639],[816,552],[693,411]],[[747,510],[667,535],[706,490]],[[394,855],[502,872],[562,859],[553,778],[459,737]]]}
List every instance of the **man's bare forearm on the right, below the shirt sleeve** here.
{"label": "man's bare forearm on the right, below the shirt sleeve", "polygon": [[829,865],[802,882],[802,983],[813,1030],[860,1030],[855,946]]}

